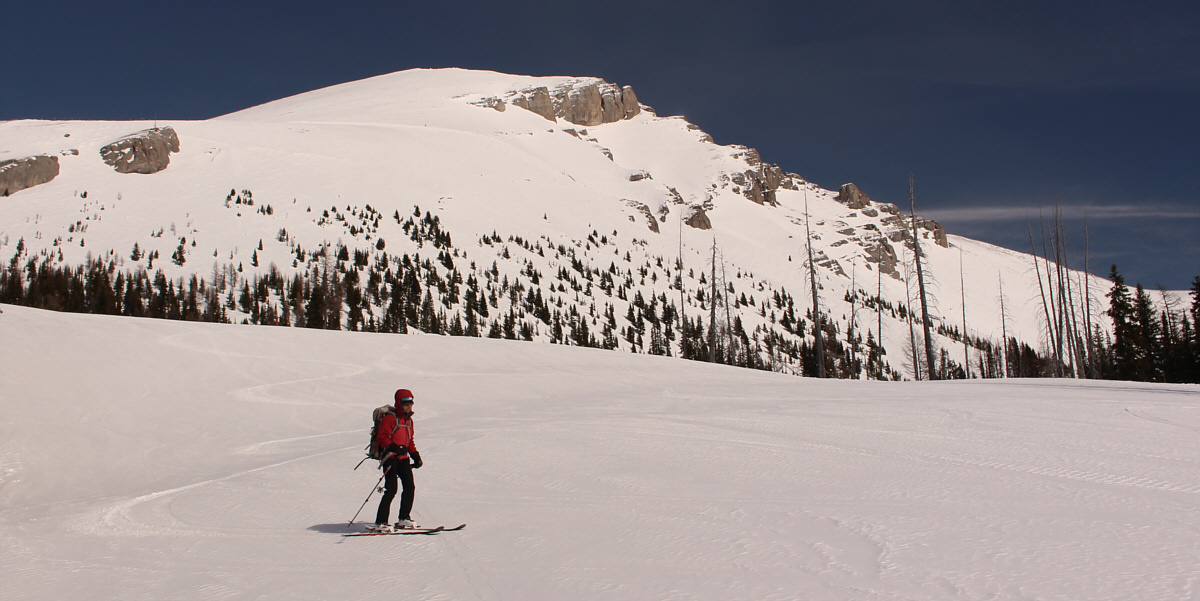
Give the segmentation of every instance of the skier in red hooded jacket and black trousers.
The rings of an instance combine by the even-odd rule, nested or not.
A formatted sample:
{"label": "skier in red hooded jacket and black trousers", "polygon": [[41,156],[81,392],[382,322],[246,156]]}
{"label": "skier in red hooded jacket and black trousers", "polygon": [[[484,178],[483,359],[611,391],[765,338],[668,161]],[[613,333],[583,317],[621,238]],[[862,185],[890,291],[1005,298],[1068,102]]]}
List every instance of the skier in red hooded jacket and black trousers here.
{"label": "skier in red hooded jacket and black trousers", "polygon": [[413,498],[416,487],[413,485],[413,469],[420,468],[421,453],[416,451],[413,440],[413,392],[408,389],[396,391],[394,410],[379,420],[376,429],[376,443],[384,449],[379,462],[384,470],[383,498],[379,499],[379,511],[376,512],[376,525],[388,527],[391,513],[391,500],[396,498],[396,481],[403,485],[400,494],[400,513],[395,528],[413,528]]}

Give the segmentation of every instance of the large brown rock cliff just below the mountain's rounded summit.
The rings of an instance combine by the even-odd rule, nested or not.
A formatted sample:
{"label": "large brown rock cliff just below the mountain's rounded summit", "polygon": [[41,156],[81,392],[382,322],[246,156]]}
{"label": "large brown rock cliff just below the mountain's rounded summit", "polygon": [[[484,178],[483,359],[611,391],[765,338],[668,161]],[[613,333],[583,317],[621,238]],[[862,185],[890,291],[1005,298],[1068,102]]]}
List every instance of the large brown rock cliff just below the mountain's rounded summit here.
{"label": "large brown rock cliff just below the mountain's rounded summit", "polygon": [[582,126],[632,119],[642,112],[632,88],[602,79],[576,79],[553,90],[529,88],[511,92],[509,102],[548,121],[562,119]]}

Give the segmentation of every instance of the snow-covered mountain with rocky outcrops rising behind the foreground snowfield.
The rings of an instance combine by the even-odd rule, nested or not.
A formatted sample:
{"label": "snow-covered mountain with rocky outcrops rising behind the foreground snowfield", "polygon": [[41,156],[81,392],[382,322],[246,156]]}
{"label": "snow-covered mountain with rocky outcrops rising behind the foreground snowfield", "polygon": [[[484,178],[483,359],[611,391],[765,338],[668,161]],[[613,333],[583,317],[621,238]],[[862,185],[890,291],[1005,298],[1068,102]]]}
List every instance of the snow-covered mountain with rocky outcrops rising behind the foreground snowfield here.
{"label": "snow-covered mountain with rocky outcrops rising behind the foreground snowfield", "polygon": [[[912,375],[906,211],[715,144],[599,79],[415,70],[206,121],[8,121],[0,161],[6,262],[161,270],[180,294],[196,275],[233,320],[294,323],[308,299],[287,282],[328,274],[344,247],[334,277],[362,301],[338,315],[343,326],[380,329],[398,274],[415,265],[421,307],[402,327],[678,355],[680,307],[709,327],[715,246],[721,338],[740,362],[787,372],[812,341],[811,228],[830,339],[853,325],[882,339],[887,373]],[[936,345],[964,362],[965,306],[974,373],[1002,331],[1042,348],[1033,258],[918,222]],[[347,271],[358,271],[349,283]],[[239,302],[240,287],[268,276]],[[1069,280],[1078,319],[1090,298],[1092,324],[1108,329],[1110,284],[1092,277],[1085,293],[1081,272]],[[839,351],[869,354],[848,342]]]}

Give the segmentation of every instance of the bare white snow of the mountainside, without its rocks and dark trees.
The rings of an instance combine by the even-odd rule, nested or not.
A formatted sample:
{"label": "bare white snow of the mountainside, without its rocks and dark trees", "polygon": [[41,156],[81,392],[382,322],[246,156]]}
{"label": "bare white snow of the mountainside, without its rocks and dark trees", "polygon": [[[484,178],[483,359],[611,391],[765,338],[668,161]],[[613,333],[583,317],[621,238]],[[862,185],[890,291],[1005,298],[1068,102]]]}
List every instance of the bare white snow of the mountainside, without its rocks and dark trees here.
{"label": "bare white snow of the mountainside, without its rocks and dark trees", "polygon": [[[374,253],[383,239],[392,258],[418,253],[421,247],[407,240],[391,217],[432,212],[454,235],[455,250],[464,259],[456,262],[475,264],[473,272],[480,278],[493,262],[497,272],[509,278],[527,265],[552,275],[571,263],[563,256],[535,257],[523,251],[514,258],[515,245],[480,242],[481,236],[496,233],[504,241],[520,236],[547,247],[563,245],[588,269],[614,266],[631,274],[644,266],[653,277],[631,277],[632,286],[647,299],[666,294],[674,302],[678,292],[672,292],[670,282],[682,246],[686,311],[697,315],[704,303],[695,295],[706,288],[698,276],[712,272],[715,240],[733,298],[754,299],[755,306],[733,311],[760,342],[768,330],[780,331],[775,314],[780,307],[768,302],[775,294],[796,299],[800,315],[811,305],[803,263],[808,200],[821,302],[839,331],[850,327],[845,299],[852,288],[859,290],[853,317],[860,333],[868,329],[876,337],[881,333],[875,315],[862,309],[862,298],[874,296],[876,286],[893,308],[910,305],[902,269],[877,282],[880,264],[868,259],[868,250],[888,238],[899,259],[912,256],[896,238],[904,235],[900,226],[888,223],[889,214],[880,212],[881,203],[869,208],[875,215],[851,210],[835,200],[835,192],[793,175],[791,188],[778,190],[776,205],[756,204],[736,180],[757,168],[752,152],[714,144],[682,118],[660,118],[648,107],[629,120],[581,127],[564,120],[551,122],[514,104],[504,112],[480,106],[484,98],[504,98],[532,86],[554,89],[578,82],[414,70],[208,121],[0,124],[0,160],[52,154],[61,155],[62,166],[54,181],[0,202],[0,258],[10,260],[24,240],[24,258],[43,253],[79,264],[91,256],[110,259],[119,269],[148,266],[145,259],[131,259],[138,245],[142,251],[158,252],[151,271],[163,270],[170,278],[196,274],[215,283],[218,278],[209,276],[221,270],[264,274],[274,264],[287,275],[311,268],[302,263],[293,268],[298,247],[346,245]],[[98,160],[104,144],[152,125],[170,125],[181,140],[181,151],[172,156],[166,170],[119,174]],[[251,191],[256,205],[230,206],[230,191]],[[262,212],[268,206],[271,215]],[[378,223],[364,217],[367,206],[383,216]],[[682,224],[694,208],[706,210],[713,229]],[[328,211],[332,214],[326,217]],[[652,218],[656,233],[649,228]],[[368,227],[352,232],[350,224]],[[608,241],[589,242],[593,233]],[[958,236],[949,236],[949,245],[941,247],[929,232],[923,234],[937,324],[962,327],[961,260],[967,331],[998,343],[1007,327],[1009,336],[1040,348],[1045,329],[1030,256]],[[188,260],[179,266],[168,257],[181,241]],[[430,258],[436,252],[426,247],[424,254]],[[251,265],[254,256],[258,268]],[[1001,282],[1008,312],[1003,324]],[[1074,282],[1075,302],[1082,306],[1082,275],[1074,272]],[[1091,281],[1093,321],[1102,327],[1108,327],[1099,315],[1108,286],[1099,278]],[[554,295],[552,288],[542,288],[547,298]],[[497,314],[508,308],[500,296]],[[622,327],[631,325],[625,320],[625,299],[581,299],[578,294],[554,299],[564,311],[593,315],[594,331],[599,330],[595,313],[607,306]],[[911,303],[917,305],[916,300]],[[450,301],[442,307],[451,315],[462,311]],[[383,308],[372,311],[378,314]],[[536,339],[546,339],[548,324],[533,325]],[[808,336],[811,339],[811,330]],[[893,368],[907,373],[902,366],[906,323],[895,314],[884,315],[882,339]],[[944,337],[938,345],[961,362],[961,345]],[[628,347],[623,343],[622,348]]]}

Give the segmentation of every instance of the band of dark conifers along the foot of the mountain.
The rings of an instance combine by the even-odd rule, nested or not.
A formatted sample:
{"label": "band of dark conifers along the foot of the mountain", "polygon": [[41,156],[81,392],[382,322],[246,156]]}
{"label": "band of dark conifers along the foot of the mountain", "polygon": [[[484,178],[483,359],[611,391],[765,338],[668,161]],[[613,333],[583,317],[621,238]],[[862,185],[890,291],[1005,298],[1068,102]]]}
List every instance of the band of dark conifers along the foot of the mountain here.
{"label": "band of dark conifers along the foot of the mountain", "polygon": [[[374,217],[374,216],[373,216]],[[396,216],[400,222],[400,216]],[[312,251],[292,246],[294,271],[284,275],[275,265],[244,272],[240,264],[214,264],[206,277],[169,278],[162,270],[137,264],[122,268],[110,257],[90,258],[71,266],[53,254],[29,256],[24,242],[6,264],[0,264],[0,302],[55,311],[152,317],[163,319],[247,323],[367,332],[421,331],[448,336],[508,339],[540,339],[556,344],[620,349],[653,355],[714,361],[756,369],[781,371],[833,378],[901,379],[877,339],[882,319],[920,321],[904,303],[854,289],[846,294],[851,315],[846,331],[834,320],[815,319],[811,308],[797,311],[796,299],[785,289],[768,290],[766,298],[748,298],[726,281],[716,259],[698,274],[700,286],[684,290],[682,258],[673,265],[668,290],[655,294],[647,280],[658,278],[664,265],[647,263],[632,268],[626,253],[624,269],[612,262],[593,266],[570,246],[544,246],[541,241],[496,235],[482,236],[481,246],[502,245],[499,257],[521,262],[518,276],[502,274],[496,262],[479,266],[466,262],[437,217],[410,218],[406,234],[427,248],[426,256],[390,256],[382,239],[370,250],[324,245]],[[288,235],[281,230],[280,240]],[[548,242],[548,239],[546,240]],[[607,245],[593,233],[587,245]],[[532,254],[547,252],[559,260],[553,274],[544,274],[529,259],[510,254],[510,246]],[[259,247],[260,250],[262,247]],[[134,260],[149,257],[139,248]],[[257,263],[257,252],[254,254]],[[185,253],[180,253],[185,259]],[[186,260],[186,259],[185,259]],[[652,259],[653,262],[653,259]],[[181,264],[182,260],[175,262]],[[694,270],[686,277],[696,278]],[[742,274],[738,274],[738,278]],[[1147,381],[1200,381],[1200,277],[1192,290],[1190,307],[1164,302],[1158,311],[1140,286],[1130,294],[1112,268],[1109,294],[1112,335],[1094,326],[1086,369],[1080,377]],[[1060,296],[1062,298],[1062,296]],[[1168,296],[1164,294],[1164,299]],[[625,311],[618,311],[622,306]],[[692,307],[688,313],[685,309]],[[698,311],[697,311],[698,308]],[[874,311],[876,326],[859,324],[856,311]],[[756,312],[762,323],[748,326],[743,315]],[[816,324],[820,324],[818,326]],[[964,324],[965,326],[965,324]],[[864,330],[866,330],[864,332]],[[937,325],[937,333],[968,349],[958,362],[947,349],[928,353],[923,337],[912,336],[906,355],[925,371],[931,365],[936,379],[967,377],[1056,377],[1061,360],[1054,351],[1039,353],[1030,344],[1004,336],[1002,343],[971,336],[966,329]],[[820,351],[818,351],[820,344]],[[1066,348],[1066,345],[1063,347]],[[972,357],[973,354],[973,357]],[[924,356],[923,356],[924,355]],[[929,357],[932,363],[928,363]]]}

